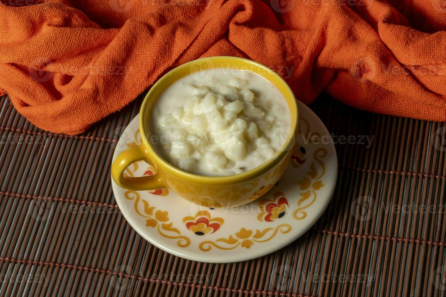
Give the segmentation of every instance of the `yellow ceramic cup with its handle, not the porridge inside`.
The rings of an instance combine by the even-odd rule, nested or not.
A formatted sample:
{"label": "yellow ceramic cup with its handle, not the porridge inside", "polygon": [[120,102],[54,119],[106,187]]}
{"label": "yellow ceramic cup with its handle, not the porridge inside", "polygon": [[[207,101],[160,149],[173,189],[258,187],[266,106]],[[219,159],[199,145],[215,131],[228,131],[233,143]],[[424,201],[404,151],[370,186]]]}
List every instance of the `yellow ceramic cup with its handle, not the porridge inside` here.
{"label": "yellow ceramic cup with its handle, not the porridge inside", "polygon": [[[223,67],[228,71],[251,70],[266,78],[284,95],[291,115],[291,126],[284,146],[272,159],[252,170],[228,176],[195,175],[174,167],[162,159],[150,144],[149,119],[152,107],[161,93],[174,81],[193,75],[197,81],[208,78],[200,76],[202,69]],[[286,82],[273,70],[238,57],[208,57],[180,65],[161,77],[149,90],[140,109],[139,127],[142,144],[121,152],[111,166],[111,175],[123,188],[142,191],[168,187],[182,198],[205,207],[240,206],[264,195],[284,173],[292,153],[297,131],[298,110],[293,92]],[[156,174],[143,177],[124,176],[124,170],[133,162],[144,160],[156,169]]]}

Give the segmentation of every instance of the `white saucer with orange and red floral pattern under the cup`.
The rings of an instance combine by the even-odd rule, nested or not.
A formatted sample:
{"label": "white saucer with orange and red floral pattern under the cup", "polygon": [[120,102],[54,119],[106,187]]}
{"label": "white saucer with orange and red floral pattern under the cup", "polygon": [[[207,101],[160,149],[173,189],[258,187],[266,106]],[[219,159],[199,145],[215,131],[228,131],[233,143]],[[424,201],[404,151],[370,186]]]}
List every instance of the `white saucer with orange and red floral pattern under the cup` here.
{"label": "white saucer with orange and red floral pattern under the cup", "polygon": [[[322,215],[335,190],[335,146],[321,120],[298,102],[299,135],[285,174],[260,199],[240,207],[208,208],[169,189],[128,191],[111,180],[116,202],[128,223],[146,240],[182,258],[210,263],[250,260],[283,248]],[[113,160],[140,144],[137,115],[121,135]],[[153,174],[144,161],[127,175]],[[153,168],[152,168],[153,169]],[[259,189],[260,192],[268,189]]]}

